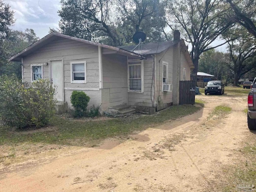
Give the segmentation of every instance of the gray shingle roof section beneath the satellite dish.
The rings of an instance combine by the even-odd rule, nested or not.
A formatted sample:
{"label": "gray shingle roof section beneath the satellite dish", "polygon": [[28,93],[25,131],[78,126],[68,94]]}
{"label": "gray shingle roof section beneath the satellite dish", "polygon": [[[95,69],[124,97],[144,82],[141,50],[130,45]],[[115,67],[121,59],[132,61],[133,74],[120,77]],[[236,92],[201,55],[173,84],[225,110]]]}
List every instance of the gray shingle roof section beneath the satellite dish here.
{"label": "gray shingle roof section beneath the satellite dish", "polygon": [[173,46],[174,44],[176,44],[176,43],[174,43],[173,41],[166,41],[166,42],[141,44],[140,50],[138,50],[138,47],[136,47],[136,45],[120,46],[119,48],[122,48],[122,49],[128,50],[128,51],[132,51],[134,49],[134,47],[136,47],[136,49],[134,50],[135,53],[147,55],[147,54],[157,54],[157,53],[163,52],[164,50]]}

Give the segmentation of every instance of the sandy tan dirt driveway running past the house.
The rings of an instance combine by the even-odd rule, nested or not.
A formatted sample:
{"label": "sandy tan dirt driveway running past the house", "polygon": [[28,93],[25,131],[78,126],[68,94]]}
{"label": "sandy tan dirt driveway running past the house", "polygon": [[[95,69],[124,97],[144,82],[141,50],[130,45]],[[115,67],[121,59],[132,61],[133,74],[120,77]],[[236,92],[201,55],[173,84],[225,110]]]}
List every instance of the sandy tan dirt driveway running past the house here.
{"label": "sandy tan dirt driveway running past the house", "polygon": [[[202,192],[221,191],[220,167],[234,164],[249,132],[246,96],[196,96],[199,112],[150,127],[126,141],[107,140],[96,148],[72,148],[36,158],[0,174],[3,192]],[[218,105],[232,112],[209,118]],[[225,182],[225,181],[223,181]]]}

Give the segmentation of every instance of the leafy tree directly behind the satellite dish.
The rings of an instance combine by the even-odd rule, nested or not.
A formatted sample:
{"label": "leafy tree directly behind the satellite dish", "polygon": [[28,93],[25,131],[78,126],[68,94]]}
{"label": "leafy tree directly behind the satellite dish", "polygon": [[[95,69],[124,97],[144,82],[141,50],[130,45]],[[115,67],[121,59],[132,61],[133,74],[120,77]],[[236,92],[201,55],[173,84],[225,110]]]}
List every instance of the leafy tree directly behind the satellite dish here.
{"label": "leafy tree directly behind the satellite dish", "polygon": [[[164,4],[159,0],[118,0],[117,29],[123,31],[125,43],[132,42],[132,36],[139,30],[147,33],[147,41],[169,40],[170,34],[165,31]],[[121,21],[121,22],[120,22]]]}

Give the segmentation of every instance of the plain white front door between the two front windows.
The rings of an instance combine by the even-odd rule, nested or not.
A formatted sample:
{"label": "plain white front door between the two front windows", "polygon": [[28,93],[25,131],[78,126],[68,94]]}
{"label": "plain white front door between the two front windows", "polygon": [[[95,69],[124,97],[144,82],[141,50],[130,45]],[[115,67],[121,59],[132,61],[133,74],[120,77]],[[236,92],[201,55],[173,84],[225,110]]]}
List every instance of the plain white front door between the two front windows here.
{"label": "plain white front door between the two front windows", "polygon": [[55,98],[58,101],[64,101],[62,60],[51,61],[50,70],[51,70],[52,85],[56,86]]}

